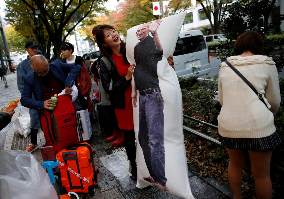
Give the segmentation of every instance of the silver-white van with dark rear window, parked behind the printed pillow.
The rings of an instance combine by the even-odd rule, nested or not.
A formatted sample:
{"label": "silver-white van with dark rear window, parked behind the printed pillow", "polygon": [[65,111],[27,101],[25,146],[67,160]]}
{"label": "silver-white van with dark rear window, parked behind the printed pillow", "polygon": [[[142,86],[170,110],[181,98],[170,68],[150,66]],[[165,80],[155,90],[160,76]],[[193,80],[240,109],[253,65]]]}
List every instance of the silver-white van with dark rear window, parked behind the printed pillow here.
{"label": "silver-white van with dark rear window, parked behind the printed pillow", "polygon": [[[200,30],[180,32],[173,57],[171,66],[178,77],[189,78],[210,73],[209,51]],[[194,71],[193,74],[192,67],[200,70]]]}

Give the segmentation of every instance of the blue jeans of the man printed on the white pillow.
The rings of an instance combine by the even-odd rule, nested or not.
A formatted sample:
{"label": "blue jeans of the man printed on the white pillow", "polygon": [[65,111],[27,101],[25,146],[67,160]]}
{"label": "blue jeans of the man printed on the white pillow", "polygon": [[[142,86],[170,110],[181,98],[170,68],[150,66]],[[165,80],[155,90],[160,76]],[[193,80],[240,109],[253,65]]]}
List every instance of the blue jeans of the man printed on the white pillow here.
{"label": "blue jeans of the man printed on the white pillow", "polygon": [[[154,92],[153,92],[154,91]],[[159,88],[139,91],[139,143],[150,176],[165,184],[164,100]]]}

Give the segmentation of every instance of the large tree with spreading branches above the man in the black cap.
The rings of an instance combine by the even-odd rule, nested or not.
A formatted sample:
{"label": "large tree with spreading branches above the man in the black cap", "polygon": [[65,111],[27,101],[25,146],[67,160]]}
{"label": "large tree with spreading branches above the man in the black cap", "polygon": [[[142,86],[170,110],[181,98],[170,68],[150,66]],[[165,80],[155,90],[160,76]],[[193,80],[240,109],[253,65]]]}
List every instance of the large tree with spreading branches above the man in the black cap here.
{"label": "large tree with spreading branches above the man in the black cap", "polygon": [[[54,56],[59,58],[62,42],[85,17],[95,16],[96,13],[103,12],[104,7],[102,5],[106,1],[5,0],[7,4],[6,20],[15,26],[15,30],[23,30],[30,35],[35,35],[41,47],[47,43],[47,57],[50,56],[52,44]],[[35,9],[41,11],[38,18],[35,17]],[[72,22],[72,18],[75,21]],[[28,21],[30,21],[30,24]],[[47,38],[45,35],[47,35]]]}

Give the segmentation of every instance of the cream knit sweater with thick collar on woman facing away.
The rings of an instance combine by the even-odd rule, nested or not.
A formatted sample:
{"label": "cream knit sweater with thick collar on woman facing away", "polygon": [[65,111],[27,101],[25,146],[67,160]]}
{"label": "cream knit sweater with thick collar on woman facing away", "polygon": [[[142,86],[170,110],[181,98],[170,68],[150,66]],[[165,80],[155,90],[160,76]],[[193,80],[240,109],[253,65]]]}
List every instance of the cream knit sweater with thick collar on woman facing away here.
{"label": "cream knit sweater with thick collar on woman facing away", "polygon": [[219,133],[229,138],[262,138],[275,132],[273,114],[280,105],[275,62],[271,57],[231,56],[229,61],[263,95],[269,110],[226,63],[219,73]]}

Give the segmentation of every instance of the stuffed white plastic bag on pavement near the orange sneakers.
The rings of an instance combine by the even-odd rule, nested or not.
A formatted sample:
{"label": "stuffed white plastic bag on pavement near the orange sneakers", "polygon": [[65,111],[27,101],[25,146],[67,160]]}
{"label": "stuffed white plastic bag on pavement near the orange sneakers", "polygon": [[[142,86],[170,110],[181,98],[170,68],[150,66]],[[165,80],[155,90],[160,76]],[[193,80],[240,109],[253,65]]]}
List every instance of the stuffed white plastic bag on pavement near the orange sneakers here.
{"label": "stuffed white plastic bag on pavement near the orange sneakers", "polygon": [[21,116],[14,121],[13,128],[23,137],[27,137],[30,134],[30,113],[27,107],[21,106]]}

